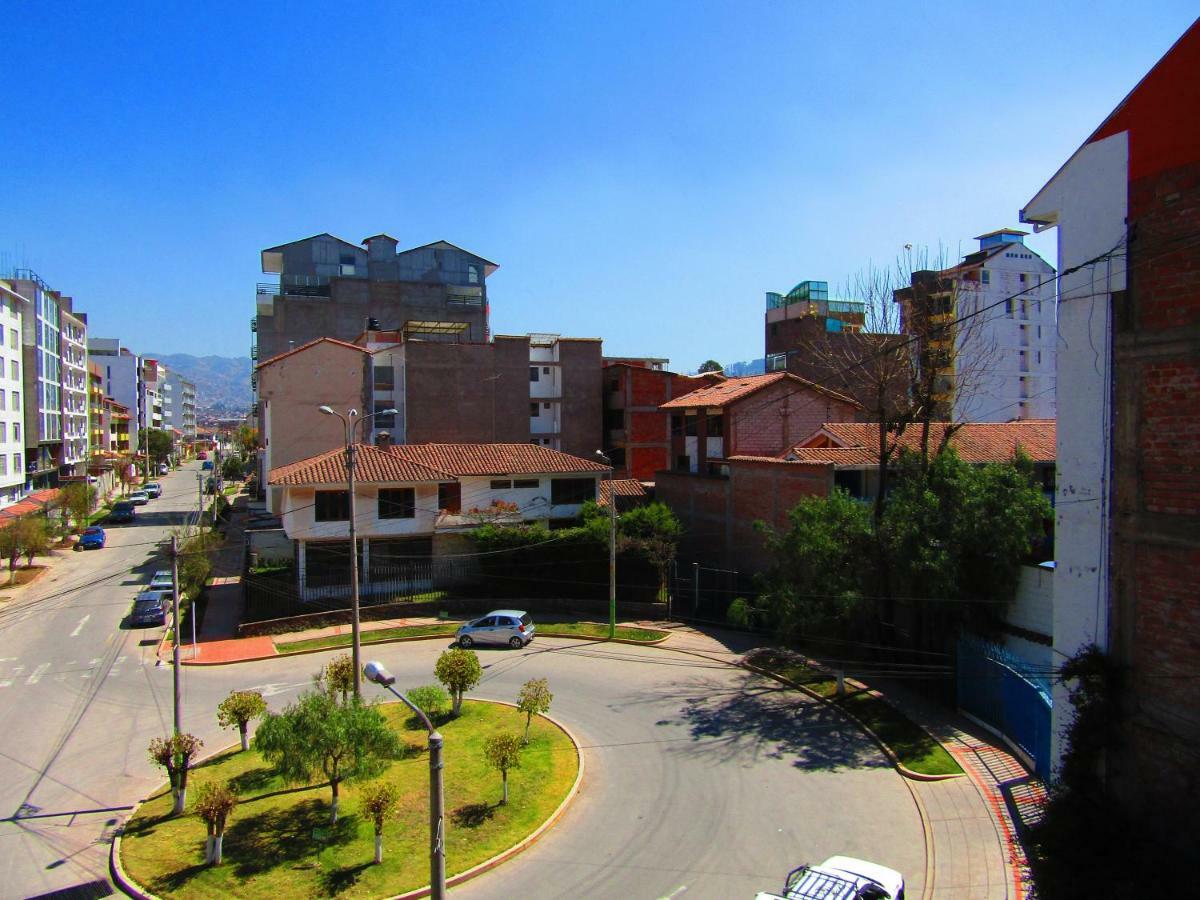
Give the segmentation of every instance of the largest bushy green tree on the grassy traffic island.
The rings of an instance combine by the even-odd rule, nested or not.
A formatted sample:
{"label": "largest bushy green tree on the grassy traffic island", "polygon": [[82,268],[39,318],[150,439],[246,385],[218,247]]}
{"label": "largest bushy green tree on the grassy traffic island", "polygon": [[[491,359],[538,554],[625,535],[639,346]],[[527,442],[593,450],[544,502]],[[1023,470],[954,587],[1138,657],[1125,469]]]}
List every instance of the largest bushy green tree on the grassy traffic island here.
{"label": "largest bushy green tree on the grassy traffic island", "polygon": [[292,784],[323,775],[332,791],[334,823],[342,781],[378,775],[401,749],[376,707],[354,696],[338,703],[319,690],[301,694],[282,713],[268,713],[254,732],[253,745]]}

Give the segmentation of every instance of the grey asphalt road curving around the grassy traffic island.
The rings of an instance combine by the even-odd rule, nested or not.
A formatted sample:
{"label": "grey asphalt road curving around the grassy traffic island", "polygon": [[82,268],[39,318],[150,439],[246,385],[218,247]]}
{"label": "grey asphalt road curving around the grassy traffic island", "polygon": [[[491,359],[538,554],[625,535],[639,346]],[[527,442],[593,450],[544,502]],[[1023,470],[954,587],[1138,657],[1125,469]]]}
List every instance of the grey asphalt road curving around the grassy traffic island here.
{"label": "grey asphalt road curving around the grassy traffic island", "polygon": [[[107,550],[77,553],[46,599],[0,611],[0,884],[31,896],[107,875],[108,838],[124,809],[162,781],[145,756],[170,727],[172,671],[146,632],[122,630],[149,577],[167,518],[181,516],[194,475]],[[194,506],[193,506],[194,508]],[[88,584],[80,588],[79,586]],[[67,592],[71,588],[76,588]],[[397,686],[433,680],[442,641],[368,648]],[[216,704],[254,688],[278,707],[334,653],[185,666],[184,727],[209,749],[235,740]],[[925,848],[912,797],[878,750],[835,712],[773,682],[697,656],[625,644],[538,638],[480,650],[473,696],[512,701],[546,677],[551,714],[584,748],[587,775],[564,818],[532,850],[476,878],[464,898],[736,898],[779,889],[787,870],[834,853],[905,872],[919,896]],[[366,685],[368,692],[376,691]],[[452,860],[451,860],[452,866]]]}

